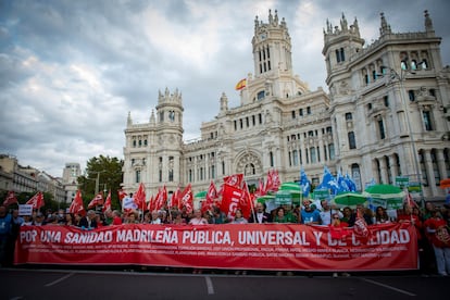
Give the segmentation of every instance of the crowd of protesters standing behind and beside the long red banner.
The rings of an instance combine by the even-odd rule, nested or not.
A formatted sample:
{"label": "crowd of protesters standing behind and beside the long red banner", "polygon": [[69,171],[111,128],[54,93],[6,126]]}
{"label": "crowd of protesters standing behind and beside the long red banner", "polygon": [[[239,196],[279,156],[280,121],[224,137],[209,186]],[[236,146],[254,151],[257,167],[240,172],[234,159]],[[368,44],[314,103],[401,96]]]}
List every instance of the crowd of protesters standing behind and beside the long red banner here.
{"label": "crowd of protesters standing behind and beside the long red banner", "polygon": [[[420,266],[423,274],[450,275],[450,207],[448,204],[436,208],[432,202],[426,202],[425,208],[421,210],[405,203],[395,214],[388,214],[383,207],[377,207],[373,211],[362,204],[357,205],[355,209],[337,208],[326,200],[312,201],[310,199],[303,199],[302,203],[297,205],[280,205],[271,212],[266,210],[264,203],[255,203],[248,218],[243,217],[240,210],[236,211],[234,217],[227,217],[218,207],[204,212],[195,209],[191,213],[188,213],[186,208],[182,210],[165,208],[152,212],[89,210],[85,215],[66,213],[64,210],[54,212],[48,210],[46,213],[34,211],[32,215],[24,216],[18,215],[17,210],[8,212],[5,207],[0,207],[0,264],[12,265],[15,239],[20,227],[24,225],[68,225],[89,230],[122,224],[297,223],[346,228],[354,225],[358,215],[362,216],[368,226],[391,222],[411,222],[417,234]],[[345,275],[348,274],[345,273]]]}

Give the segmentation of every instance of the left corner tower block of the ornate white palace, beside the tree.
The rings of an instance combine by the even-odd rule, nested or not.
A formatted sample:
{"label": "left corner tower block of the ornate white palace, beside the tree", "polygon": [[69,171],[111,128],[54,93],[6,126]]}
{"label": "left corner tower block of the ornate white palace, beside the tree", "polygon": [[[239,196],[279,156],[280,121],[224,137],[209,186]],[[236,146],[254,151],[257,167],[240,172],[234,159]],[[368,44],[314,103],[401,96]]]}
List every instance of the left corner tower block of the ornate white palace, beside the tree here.
{"label": "left corner tower block of the ornate white palace, beside the tree", "polygon": [[182,93],[178,90],[171,93],[167,88],[164,92],[159,91],[155,109],[146,124],[134,124],[128,113],[123,183],[128,192],[136,191],[140,183],[145,185],[147,196],[155,195],[163,186],[171,192],[183,182]]}

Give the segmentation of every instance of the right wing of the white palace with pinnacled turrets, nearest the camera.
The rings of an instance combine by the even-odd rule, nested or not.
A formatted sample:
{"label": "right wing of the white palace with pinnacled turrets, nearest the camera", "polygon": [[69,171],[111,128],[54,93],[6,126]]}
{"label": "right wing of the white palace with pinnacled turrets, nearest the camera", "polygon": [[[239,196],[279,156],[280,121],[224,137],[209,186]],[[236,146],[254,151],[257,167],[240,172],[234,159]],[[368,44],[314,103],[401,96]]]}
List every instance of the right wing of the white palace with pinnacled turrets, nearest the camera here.
{"label": "right wing of the white palace with pinnacled turrets, nearest the camera", "polygon": [[[337,168],[364,184],[407,177],[439,195],[449,172],[449,68],[441,66],[440,38],[425,11],[424,32],[395,33],[380,14],[379,38],[364,46],[357,21],[347,28],[327,22],[323,54],[330,91]],[[443,141],[443,142],[442,142]]]}

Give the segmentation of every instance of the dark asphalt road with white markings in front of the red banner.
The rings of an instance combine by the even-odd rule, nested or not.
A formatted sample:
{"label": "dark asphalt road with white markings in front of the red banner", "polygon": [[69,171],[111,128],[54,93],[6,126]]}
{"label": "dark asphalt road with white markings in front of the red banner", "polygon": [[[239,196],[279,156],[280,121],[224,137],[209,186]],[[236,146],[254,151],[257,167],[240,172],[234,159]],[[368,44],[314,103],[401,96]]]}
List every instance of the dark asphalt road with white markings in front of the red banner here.
{"label": "dark asphalt road with white markings in front of the red banner", "polygon": [[450,277],[0,268],[0,299],[449,299]]}

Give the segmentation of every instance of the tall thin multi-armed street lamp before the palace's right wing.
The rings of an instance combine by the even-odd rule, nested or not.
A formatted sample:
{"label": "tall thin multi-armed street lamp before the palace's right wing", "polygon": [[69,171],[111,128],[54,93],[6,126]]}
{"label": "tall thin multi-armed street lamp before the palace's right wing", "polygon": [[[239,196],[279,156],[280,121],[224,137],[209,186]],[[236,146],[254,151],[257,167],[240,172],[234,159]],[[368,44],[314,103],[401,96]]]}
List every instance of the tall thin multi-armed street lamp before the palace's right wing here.
{"label": "tall thin multi-armed street lamp before the palace's right wing", "polygon": [[[405,61],[402,61],[403,63],[405,63]],[[418,63],[417,65],[423,65],[424,62]],[[405,65],[408,65],[405,63]],[[403,66],[400,68],[400,74],[393,70],[392,67],[388,67],[388,66],[384,66],[382,65],[382,68],[385,70],[389,70],[389,74],[390,74],[390,83],[393,79],[398,79],[399,84],[400,84],[400,100],[402,102],[403,105],[403,110],[404,110],[404,114],[405,114],[405,118],[407,118],[407,126],[408,126],[408,133],[410,135],[410,142],[411,142],[411,155],[412,159],[414,161],[414,168],[415,168],[415,176],[417,177],[417,184],[420,185],[420,189],[421,189],[421,204],[422,207],[424,207],[424,199],[423,199],[423,193],[422,193],[422,175],[421,175],[421,168],[418,165],[418,152],[416,150],[415,147],[415,140],[414,140],[414,136],[413,136],[413,130],[412,130],[412,126],[411,126],[411,118],[410,118],[410,110],[409,110],[409,105],[407,102],[407,97],[405,97],[405,89],[404,89],[404,80],[407,79],[407,74],[412,74],[414,75],[415,72],[414,71],[408,71],[405,68],[403,68]]]}

